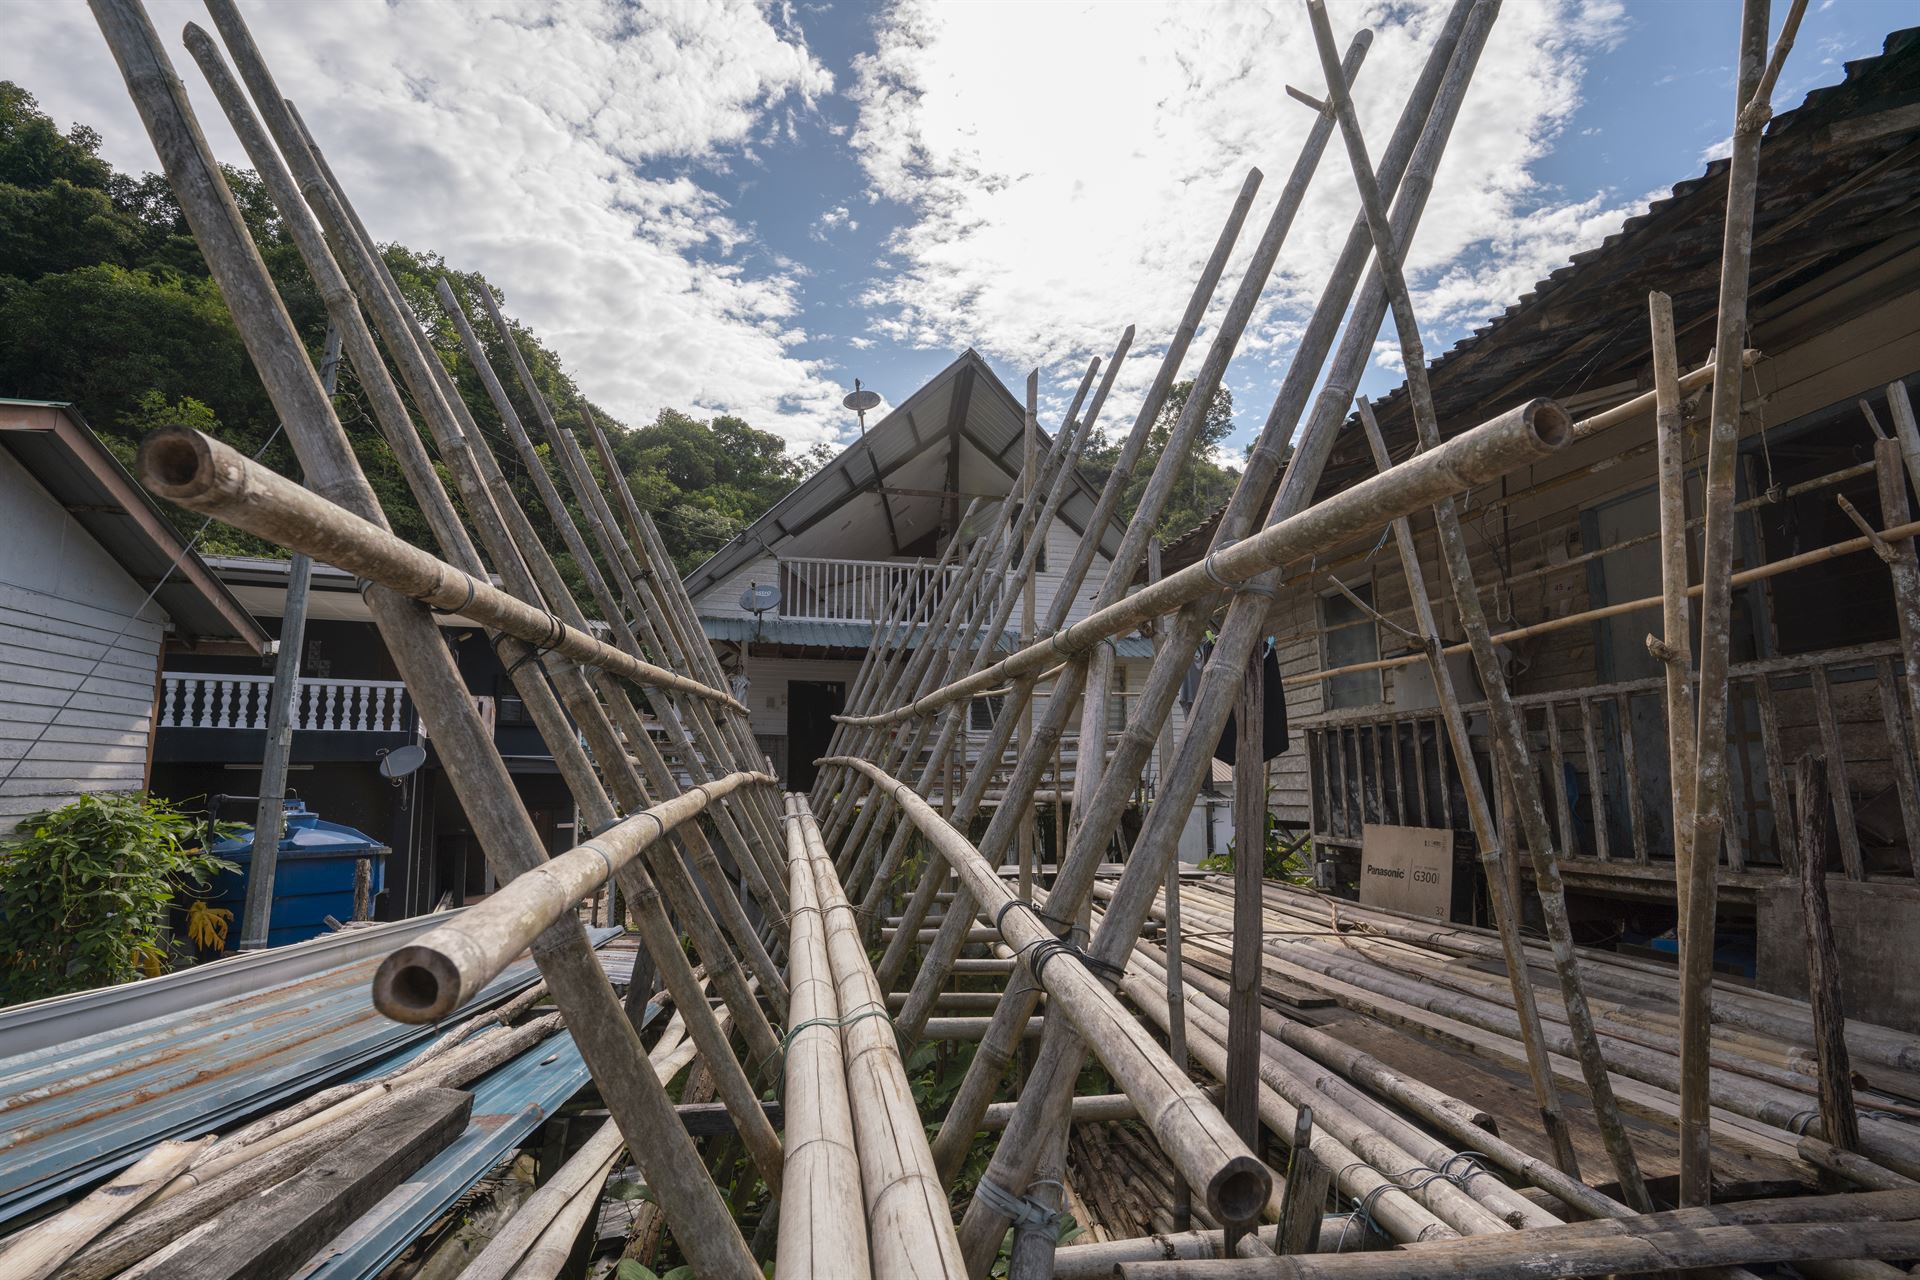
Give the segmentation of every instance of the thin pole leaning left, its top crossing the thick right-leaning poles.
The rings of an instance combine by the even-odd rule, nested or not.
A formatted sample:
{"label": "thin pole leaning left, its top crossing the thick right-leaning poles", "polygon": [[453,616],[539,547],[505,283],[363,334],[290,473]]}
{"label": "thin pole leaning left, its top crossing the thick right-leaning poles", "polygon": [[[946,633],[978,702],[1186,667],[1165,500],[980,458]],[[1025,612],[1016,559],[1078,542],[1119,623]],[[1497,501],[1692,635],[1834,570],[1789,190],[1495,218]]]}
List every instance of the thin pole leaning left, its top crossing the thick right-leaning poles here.
{"label": "thin pole leaning left, its top crossing the thick right-leaning poles", "polygon": [[[1308,0],[1308,17],[1313,25],[1319,46],[1321,71],[1327,79],[1327,102],[1340,121],[1340,132],[1348,144],[1354,182],[1359,186],[1359,203],[1373,234],[1375,271],[1379,273],[1386,299],[1392,307],[1400,353],[1407,368],[1407,399],[1413,405],[1415,432],[1421,449],[1440,447],[1440,422],[1432,403],[1432,388],[1427,382],[1427,349],[1421,340],[1419,322],[1413,315],[1413,301],[1405,274],[1400,267],[1400,249],[1386,213],[1386,201],[1373,180],[1373,165],[1367,159],[1367,142],[1359,130],[1359,117],[1354,100],[1346,92],[1340,77],[1338,56],[1332,42],[1332,25],[1327,21],[1323,0]],[[1738,359],[1738,355],[1736,355]],[[1475,587],[1473,560],[1467,553],[1467,535],[1459,526],[1452,495],[1432,507],[1434,532],[1440,535],[1440,551],[1453,585],[1453,601],[1459,610],[1461,629],[1473,645],[1475,668],[1480,674],[1480,687],[1486,693],[1492,720],[1494,756],[1505,773],[1511,789],[1521,827],[1526,837],[1526,852],[1534,864],[1534,889],[1538,890],[1540,912],[1546,919],[1548,938],[1553,944],[1553,963],[1561,979],[1561,998],[1567,1009],[1567,1027],[1572,1034],[1580,1067],[1586,1077],[1588,1100],[1594,1107],[1594,1121],[1599,1125],[1613,1171],[1620,1180],[1626,1203],[1638,1209],[1651,1209],[1645,1180],[1640,1176],[1640,1163],[1634,1159],[1634,1146],[1613,1102],[1613,1086],[1607,1079],[1605,1057],[1601,1055],[1599,1032],[1586,1006],[1586,988],[1580,984],[1578,960],[1572,946],[1572,923],[1567,915],[1567,894],[1561,889],[1553,835],[1548,823],[1546,804],[1540,794],[1538,773],[1526,745],[1526,725],[1513,704],[1505,670],[1494,652],[1486,614],[1480,608],[1480,593]],[[1509,910],[1519,904],[1509,898]],[[1515,921],[1517,925],[1517,921]],[[1523,1032],[1532,1027],[1523,1025]]]}

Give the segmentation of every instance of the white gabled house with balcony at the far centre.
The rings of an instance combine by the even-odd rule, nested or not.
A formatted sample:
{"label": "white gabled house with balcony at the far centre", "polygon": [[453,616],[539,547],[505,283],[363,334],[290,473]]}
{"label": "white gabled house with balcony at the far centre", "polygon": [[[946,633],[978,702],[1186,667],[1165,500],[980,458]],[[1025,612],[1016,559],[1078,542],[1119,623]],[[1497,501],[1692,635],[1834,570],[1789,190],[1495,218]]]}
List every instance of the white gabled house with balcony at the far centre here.
{"label": "white gabled house with balcony at the far centre", "polygon": [[[755,735],[787,785],[812,783],[812,762],[833,731],[831,716],[841,710],[887,606],[900,591],[937,591],[950,580],[956,570],[937,564],[968,503],[1000,501],[1016,487],[1023,424],[1021,401],[968,349],[687,576],[687,595],[707,637],[722,666],[745,681]],[[1062,570],[1096,499],[1079,482],[1048,532],[1035,574],[1041,622],[1050,616]],[[962,537],[970,532],[958,530]],[[1102,532],[1102,555],[1073,597],[1069,622],[1092,610],[1106,557],[1117,551],[1121,533],[1117,524]],[[1021,585],[1008,581],[1002,589]],[[778,601],[758,614],[749,601],[755,587],[778,587]],[[1006,649],[1020,635],[1021,608],[1016,604],[1008,633],[998,639]],[[1125,727],[1127,695],[1144,683],[1152,643],[1131,635],[1117,652],[1112,733]],[[1044,700],[1037,712],[1044,714]],[[985,739],[991,716],[989,702],[973,704],[973,743]],[[1066,789],[1075,750],[1077,735],[1062,750]],[[1152,770],[1140,787],[1152,794]],[[1052,777],[1043,794],[1050,789]],[[1206,852],[1204,818],[1202,808],[1192,856]],[[1221,810],[1213,833],[1219,850],[1225,850],[1225,821]]]}

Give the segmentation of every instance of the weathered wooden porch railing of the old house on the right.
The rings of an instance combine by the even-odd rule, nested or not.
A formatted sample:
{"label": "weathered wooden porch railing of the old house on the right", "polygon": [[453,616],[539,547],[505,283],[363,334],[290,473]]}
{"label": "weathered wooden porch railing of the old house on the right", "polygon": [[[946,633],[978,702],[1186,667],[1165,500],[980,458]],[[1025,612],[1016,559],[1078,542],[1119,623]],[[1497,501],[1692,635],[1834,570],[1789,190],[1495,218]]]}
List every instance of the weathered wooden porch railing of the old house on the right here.
{"label": "weathered wooden porch railing of the old house on the right", "polygon": [[[1730,871],[1795,865],[1789,777],[1793,762],[1812,752],[1832,781],[1845,875],[1920,873],[1920,735],[1905,704],[1899,645],[1743,662],[1730,677],[1722,864]],[[1665,697],[1655,677],[1515,699],[1563,858],[1622,871],[1672,860]],[[1463,710],[1473,718],[1484,706]],[[1469,831],[1436,710],[1363,706],[1300,727],[1315,841],[1357,848],[1367,823]],[[1475,745],[1475,768],[1492,779],[1484,743]],[[1524,846],[1513,816],[1488,794],[1501,841]]]}

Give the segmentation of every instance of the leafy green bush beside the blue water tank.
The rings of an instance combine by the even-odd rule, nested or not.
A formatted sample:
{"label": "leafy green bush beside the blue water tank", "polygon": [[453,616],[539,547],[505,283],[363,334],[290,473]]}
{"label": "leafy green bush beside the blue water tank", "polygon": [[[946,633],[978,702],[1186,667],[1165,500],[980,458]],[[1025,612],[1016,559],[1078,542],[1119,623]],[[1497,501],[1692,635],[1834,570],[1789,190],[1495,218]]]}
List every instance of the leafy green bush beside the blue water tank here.
{"label": "leafy green bush beside the blue water tank", "polygon": [[86,794],[0,839],[0,1004],[163,973],[167,904],[236,869],[144,793]]}

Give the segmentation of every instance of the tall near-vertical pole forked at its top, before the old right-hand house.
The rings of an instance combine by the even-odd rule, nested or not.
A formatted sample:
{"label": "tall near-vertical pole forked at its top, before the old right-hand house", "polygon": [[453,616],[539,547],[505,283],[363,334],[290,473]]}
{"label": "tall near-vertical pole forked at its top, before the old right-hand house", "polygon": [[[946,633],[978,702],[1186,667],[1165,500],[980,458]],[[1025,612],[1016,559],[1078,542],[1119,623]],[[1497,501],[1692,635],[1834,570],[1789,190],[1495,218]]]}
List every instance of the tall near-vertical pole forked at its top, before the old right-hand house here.
{"label": "tall near-vertical pole forked at its top, before the old right-hand house", "polygon": [[[1793,44],[1805,12],[1793,0],[1778,56]],[[1699,712],[1693,722],[1693,796],[1674,825],[1693,835],[1680,919],[1680,1203],[1713,1197],[1713,1115],[1709,1109],[1707,1032],[1713,1025],[1713,948],[1716,871],[1726,814],[1726,700],[1734,614],[1734,472],[1740,451],[1740,349],[1747,332],[1747,267],[1753,257],[1753,201],[1761,177],[1761,132],[1772,113],[1766,63],[1768,0],[1745,0],[1740,12],[1740,75],[1734,84],[1734,148],[1726,169],[1726,232],[1720,246],[1720,303],[1715,317],[1715,382],[1707,443],[1707,530],[1701,541]],[[1772,75],[1778,75],[1774,67]],[[1676,848],[1676,852],[1680,852]]]}

